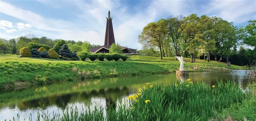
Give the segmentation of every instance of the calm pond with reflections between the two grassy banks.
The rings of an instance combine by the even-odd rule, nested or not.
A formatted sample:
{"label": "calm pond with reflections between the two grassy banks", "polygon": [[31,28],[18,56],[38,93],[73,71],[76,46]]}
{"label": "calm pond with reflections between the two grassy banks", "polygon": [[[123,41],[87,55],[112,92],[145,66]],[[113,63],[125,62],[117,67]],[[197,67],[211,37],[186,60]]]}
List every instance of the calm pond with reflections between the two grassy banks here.
{"label": "calm pond with reflections between the two grassy banks", "polygon": [[[76,105],[79,112],[82,107],[94,106],[99,103],[104,108],[106,101],[117,104],[127,96],[133,95],[136,89],[150,84],[170,84],[191,79],[193,82],[204,81],[215,85],[217,80],[232,80],[242,89],[247,89],[248,79],[244,70],[189,72],[188,76],[170,74],[122,76],[103,79],[88,79],[85,81],[62,82],[42,87],[30,87],[23,90],[13,90],[0,93],[0,120],[12,120],[13,116],[20,115],[21,120],[37,117],[38,109],[49,110],[49,113],[61,113],[66,106]],[[106,112],[106,111],[104,111]],[[14,117],[17,119],[17,117]]]}

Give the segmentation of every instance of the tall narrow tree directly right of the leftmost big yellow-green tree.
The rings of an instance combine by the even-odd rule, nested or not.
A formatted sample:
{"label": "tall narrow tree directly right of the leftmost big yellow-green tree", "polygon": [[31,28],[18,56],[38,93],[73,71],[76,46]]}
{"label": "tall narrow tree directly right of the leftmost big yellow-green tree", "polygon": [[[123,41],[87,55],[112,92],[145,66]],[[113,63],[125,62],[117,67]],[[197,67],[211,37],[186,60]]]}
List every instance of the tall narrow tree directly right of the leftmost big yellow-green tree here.
{"label": "tall narrow tree directly right of the leftmost big yellow-green tree", "polygon": [[[179,29],[181,28],[181,20],[183,16],[171,16],[167,19],[167,27],[168,27],[168,34],[171,37],[171,43],[175,49],[175,56],[178,55],[178,50],[180,46],[180,35],[181,32]],[[176,58],[177,59],[177,58]]]}

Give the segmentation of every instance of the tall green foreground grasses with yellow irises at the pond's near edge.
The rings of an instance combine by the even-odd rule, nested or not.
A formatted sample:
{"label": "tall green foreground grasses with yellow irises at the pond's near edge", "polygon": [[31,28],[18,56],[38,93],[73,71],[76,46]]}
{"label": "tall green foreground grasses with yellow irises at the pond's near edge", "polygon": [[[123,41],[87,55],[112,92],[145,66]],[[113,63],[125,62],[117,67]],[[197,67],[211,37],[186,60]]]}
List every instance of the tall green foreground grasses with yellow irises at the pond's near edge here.
{"label": "tall green foreground grasses with yellow irises at the pond's near edge", "polygon": [[[243,92],[237,84],[222,83],[210,87],[204,83],[151,85],[139,88],[127,101],[114,106],[106,103],[106,116],[98,105],[80,113],[76,107],[63,111],[63,116],[48,117],[47,111],[38,112],[45,120],[255,120],[255,96]],[[239,108],[240,107],[240,108]],[[238,109],[237,109],[238,108]],[[88,110],[89,109],[89,110]],[[228,111],[228,112],[227,112]],[[235,113],[231,113],[233,111]],[[71,112],[71,113],[67,113]],[[233,115],[235,114],[235,115]],[[223,116],[224,115],[224,116]],[[35,119],[33,119],[35,120]]]}

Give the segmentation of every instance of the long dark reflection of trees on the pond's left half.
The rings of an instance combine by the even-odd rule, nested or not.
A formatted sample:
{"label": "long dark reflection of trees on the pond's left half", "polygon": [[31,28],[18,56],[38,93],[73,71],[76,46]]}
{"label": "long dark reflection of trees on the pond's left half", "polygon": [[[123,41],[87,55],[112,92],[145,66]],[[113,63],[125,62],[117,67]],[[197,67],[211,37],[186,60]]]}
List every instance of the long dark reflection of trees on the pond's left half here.
{"label": "long dark reflection of trees on the pond's left half", "polygon": [[[91,102],[92,97],[105,97],[108,105],[112,106],[112,108],[115,109],[116,100],[128,94],[129,89],[127,87],[116,87],[108,89],[99,89],[99,91],[91,90],[89,92],[53,95],[50,97],[33,99],[29,101],[20,102],[19,104],[17,104],[17,107],[20,110],[27,110],[28,108],[43,107],[43,105],[44,108],[47,108],[48,106],[55,104],[58,108],[64,110],[67,104],[70,102],[81,101],[84,102],[85,105],[87,105]],[[15,105],[12,106],[12,108],[15,108]]]}

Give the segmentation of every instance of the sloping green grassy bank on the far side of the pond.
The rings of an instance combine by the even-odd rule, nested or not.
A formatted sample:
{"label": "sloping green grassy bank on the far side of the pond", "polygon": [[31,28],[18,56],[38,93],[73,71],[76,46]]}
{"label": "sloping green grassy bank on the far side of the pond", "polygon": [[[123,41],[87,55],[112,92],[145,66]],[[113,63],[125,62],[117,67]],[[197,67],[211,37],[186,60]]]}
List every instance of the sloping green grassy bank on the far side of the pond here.
{"label": "sloping green grassy bank on the far side of the pond", "polygon": [[[158,58],[159,59],[159,58]],[[187,58],[186,58],[187,59]],[[147,61],[148,60],[148,61]],[[202,60],[200,60],[202,61]],[[156,57],[131,56],[122,61],[64,61],[43,58],[18,58],[15,55],[0,55],[0,88],[28,87],[41,83],[73,81],[86,78],[119,75],[170,73],[178,70],[180,63],[173,57],[157,60]],[[188,71],[220,71],[242,69],[219,62],[185,63]]]}

